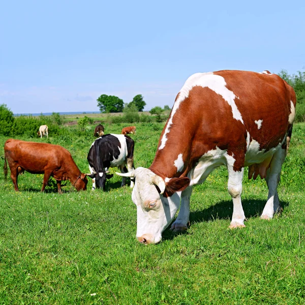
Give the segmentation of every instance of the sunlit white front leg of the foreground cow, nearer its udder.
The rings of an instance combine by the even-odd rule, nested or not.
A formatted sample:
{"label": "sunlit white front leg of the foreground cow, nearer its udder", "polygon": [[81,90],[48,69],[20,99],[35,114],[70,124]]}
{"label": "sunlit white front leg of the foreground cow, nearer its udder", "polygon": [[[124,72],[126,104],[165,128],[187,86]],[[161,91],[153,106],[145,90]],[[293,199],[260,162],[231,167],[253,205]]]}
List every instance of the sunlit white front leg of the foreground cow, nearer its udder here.
{"label": "sunlit white front leg of the foreground cow, nearer its udder", "polygon": [[228,191],[233,200],[233,215],[232,221],[229,226],[230,229],[245,227],[243,221],[245,218],[245,213],[243,212],[241,205],[241,190],[242,190],[242,177],[243,177],[243,167],[240,170],[235,171],[233,166],[228,164]]}

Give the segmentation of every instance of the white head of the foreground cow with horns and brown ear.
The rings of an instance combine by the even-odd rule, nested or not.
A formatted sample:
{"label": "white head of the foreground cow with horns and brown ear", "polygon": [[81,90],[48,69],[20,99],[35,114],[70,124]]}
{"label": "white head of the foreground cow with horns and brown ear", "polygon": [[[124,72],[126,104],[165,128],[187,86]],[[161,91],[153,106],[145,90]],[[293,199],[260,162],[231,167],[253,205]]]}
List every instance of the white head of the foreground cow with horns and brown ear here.
{"label": "white head of the foreground cow with horns and brown ear", "polygon": [[172,222],[179,208],[180,196],[176,192],[186,189],[190,179],[171,178],[165,182],[163,178],[143,167],[117,174],[135,177],[131,198],[137,206],[137,239],[145,244],[159,242],[162,232]]}

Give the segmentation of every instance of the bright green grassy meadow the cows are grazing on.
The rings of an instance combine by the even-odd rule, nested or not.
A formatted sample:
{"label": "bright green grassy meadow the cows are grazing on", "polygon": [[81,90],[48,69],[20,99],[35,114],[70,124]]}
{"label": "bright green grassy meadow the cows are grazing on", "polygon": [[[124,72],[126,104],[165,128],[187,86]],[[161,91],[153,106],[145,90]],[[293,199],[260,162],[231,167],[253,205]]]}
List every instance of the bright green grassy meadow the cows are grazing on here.
{"label": "bright green grassy meadow the cows are grazing on", "polygon": [[[105,126],[120,133],[126,124]],[[135,166],[154,159],[164,123],[138,123]],[[22,138],[67,148],[88,172],[86,136]],[[7,137],[0,137],[3,147]],[[167,229],[158,245],[136,240],[136,207],[120,177],[106,192],[64,194],[43,175],[18,177],[20,193],[0,170],[0,303],[2,304],[303,304],[305,301],[305,125],[295,124],[278,188],[283,206],[271,221],[260,219],[267,187],[259,177],[243,182],[246,228],[228,229],[232,200],[226,168],[211,173],[191,197],[191,227]],[[4,156],[2,152],[0,157]],[[3,167],[4,159],[0,158]],[[116,169],[110,169],[113,173]]]}

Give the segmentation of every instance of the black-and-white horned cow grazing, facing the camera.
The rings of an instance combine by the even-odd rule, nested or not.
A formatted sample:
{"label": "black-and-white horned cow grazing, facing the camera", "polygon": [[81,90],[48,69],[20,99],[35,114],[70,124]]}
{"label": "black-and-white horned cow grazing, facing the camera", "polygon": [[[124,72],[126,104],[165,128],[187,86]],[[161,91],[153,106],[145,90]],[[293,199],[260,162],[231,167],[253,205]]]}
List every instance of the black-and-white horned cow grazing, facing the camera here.
{"label": "black-and-white horned cow grazing, facing the camera", "polygon": [[[113,176],[107,173],[109,167],[118,167],[121,173],[125,172],[126,165],[128,172],[134,169],[134,146],[135,142],[129,136],[115,134],[104,135],[92,143],[87,156],[91,173],[87,176],[92,178],[92,190],[105,190],[106,179]],[[121,186],[125,183],[126,177],[123,177]],[[133,186],[134,181],[131,179],[130,187]]]}

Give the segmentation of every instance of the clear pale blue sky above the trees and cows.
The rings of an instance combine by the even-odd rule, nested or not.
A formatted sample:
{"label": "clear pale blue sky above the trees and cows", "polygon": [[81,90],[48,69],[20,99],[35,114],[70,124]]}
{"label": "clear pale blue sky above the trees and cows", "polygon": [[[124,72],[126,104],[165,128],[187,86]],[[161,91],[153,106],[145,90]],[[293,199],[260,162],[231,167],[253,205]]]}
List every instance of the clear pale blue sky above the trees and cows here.
{"label": "clear pale blue sky above the trees and cows", "polygon": [[6,1],[0,104],[98,111],[101,94],[172,107],[186,79],[305,69],[305,1]]}

